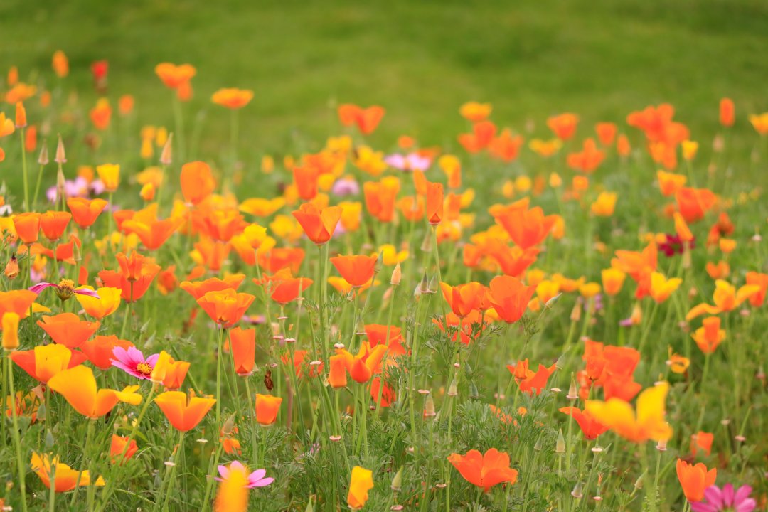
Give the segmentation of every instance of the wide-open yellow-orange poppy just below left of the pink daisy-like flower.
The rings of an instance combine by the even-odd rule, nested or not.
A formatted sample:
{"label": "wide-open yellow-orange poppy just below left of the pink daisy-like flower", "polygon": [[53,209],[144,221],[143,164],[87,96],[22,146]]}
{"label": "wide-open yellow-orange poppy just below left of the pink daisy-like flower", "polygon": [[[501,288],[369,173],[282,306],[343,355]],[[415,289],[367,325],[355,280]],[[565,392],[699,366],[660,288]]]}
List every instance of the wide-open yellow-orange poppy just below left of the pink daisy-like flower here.
{"label": "wide-open yellow-orange poppy just below left of the pink daisy-like flower", "polygon": [[119,401],[131,405],[141,404],[141,395],[136,392],[139,388],[137,385],[128,386],[123,391],[97,389],[93,370],[83,365],[58,372],[48,381],[48,386],[66,398],[75,411],[91,419],[101,418]]}

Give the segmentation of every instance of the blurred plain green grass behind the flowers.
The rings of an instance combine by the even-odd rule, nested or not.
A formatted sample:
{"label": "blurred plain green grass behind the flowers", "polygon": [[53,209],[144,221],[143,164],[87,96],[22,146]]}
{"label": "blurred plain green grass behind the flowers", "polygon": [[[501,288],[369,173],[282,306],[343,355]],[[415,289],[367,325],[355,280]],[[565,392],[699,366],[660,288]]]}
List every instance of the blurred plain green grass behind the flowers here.
{"label": "blurred plain green grass behind the flowers", "polygon": [[252,88],[244,150],[277,153],[317,147],[336,126],[331,106],[343,102],[387,108],[379,145],[408,133],[447,149],[464,128],[455,113],[468,99],[492,102],[495,120],[518,130],[535,121],[537,134],[560,111],[581,114],[584,131],[668,101],[695,136],[717,122],[723,96],[736,101],[745,133],[745,114],[768,109],[768,5],[760,0],[225,5],[8,0],[0,63],[21,65],[23,77],[48,69],[63,49],[78,69],[71,80],[87,86],[88,64],[106,58],[112,94],[134,94],[141,121],[170,124],[153,68],[188,61],[198,69],[190,110],[204,111],[214,128],[208,143],[228,127],[210,94]]}

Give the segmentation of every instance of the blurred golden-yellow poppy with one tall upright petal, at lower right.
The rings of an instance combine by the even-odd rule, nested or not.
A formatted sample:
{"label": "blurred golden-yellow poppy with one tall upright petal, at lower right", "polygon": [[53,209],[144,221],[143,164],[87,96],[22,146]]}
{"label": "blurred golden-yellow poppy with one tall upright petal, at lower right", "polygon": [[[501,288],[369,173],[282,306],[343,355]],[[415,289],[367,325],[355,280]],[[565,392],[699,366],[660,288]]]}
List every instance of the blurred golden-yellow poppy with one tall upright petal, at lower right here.
{"label": "blurred golden-yellow poppy with one tall upright petal, at lower right", "polygon": [[672,428],[664,420],[668,391],[669,384],[661,382],[641,392],[637,397],[637,413],[621,398],[588,400],[584,410],[628,441],[667,441],[672,436]]}

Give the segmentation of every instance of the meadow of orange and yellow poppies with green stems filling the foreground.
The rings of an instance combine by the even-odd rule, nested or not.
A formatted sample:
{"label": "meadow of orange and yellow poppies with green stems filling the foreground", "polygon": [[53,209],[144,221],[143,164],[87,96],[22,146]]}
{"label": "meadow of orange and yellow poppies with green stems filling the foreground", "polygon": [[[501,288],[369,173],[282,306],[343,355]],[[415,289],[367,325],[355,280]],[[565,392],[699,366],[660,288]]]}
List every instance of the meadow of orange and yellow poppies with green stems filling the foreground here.
{"label": "meadow of orange and yellow poppies with green stems filling the foreground", "polygon": [[768,98],[266,148],[268,76],[65,43],[0,64],[0,510],[766,510]]}

